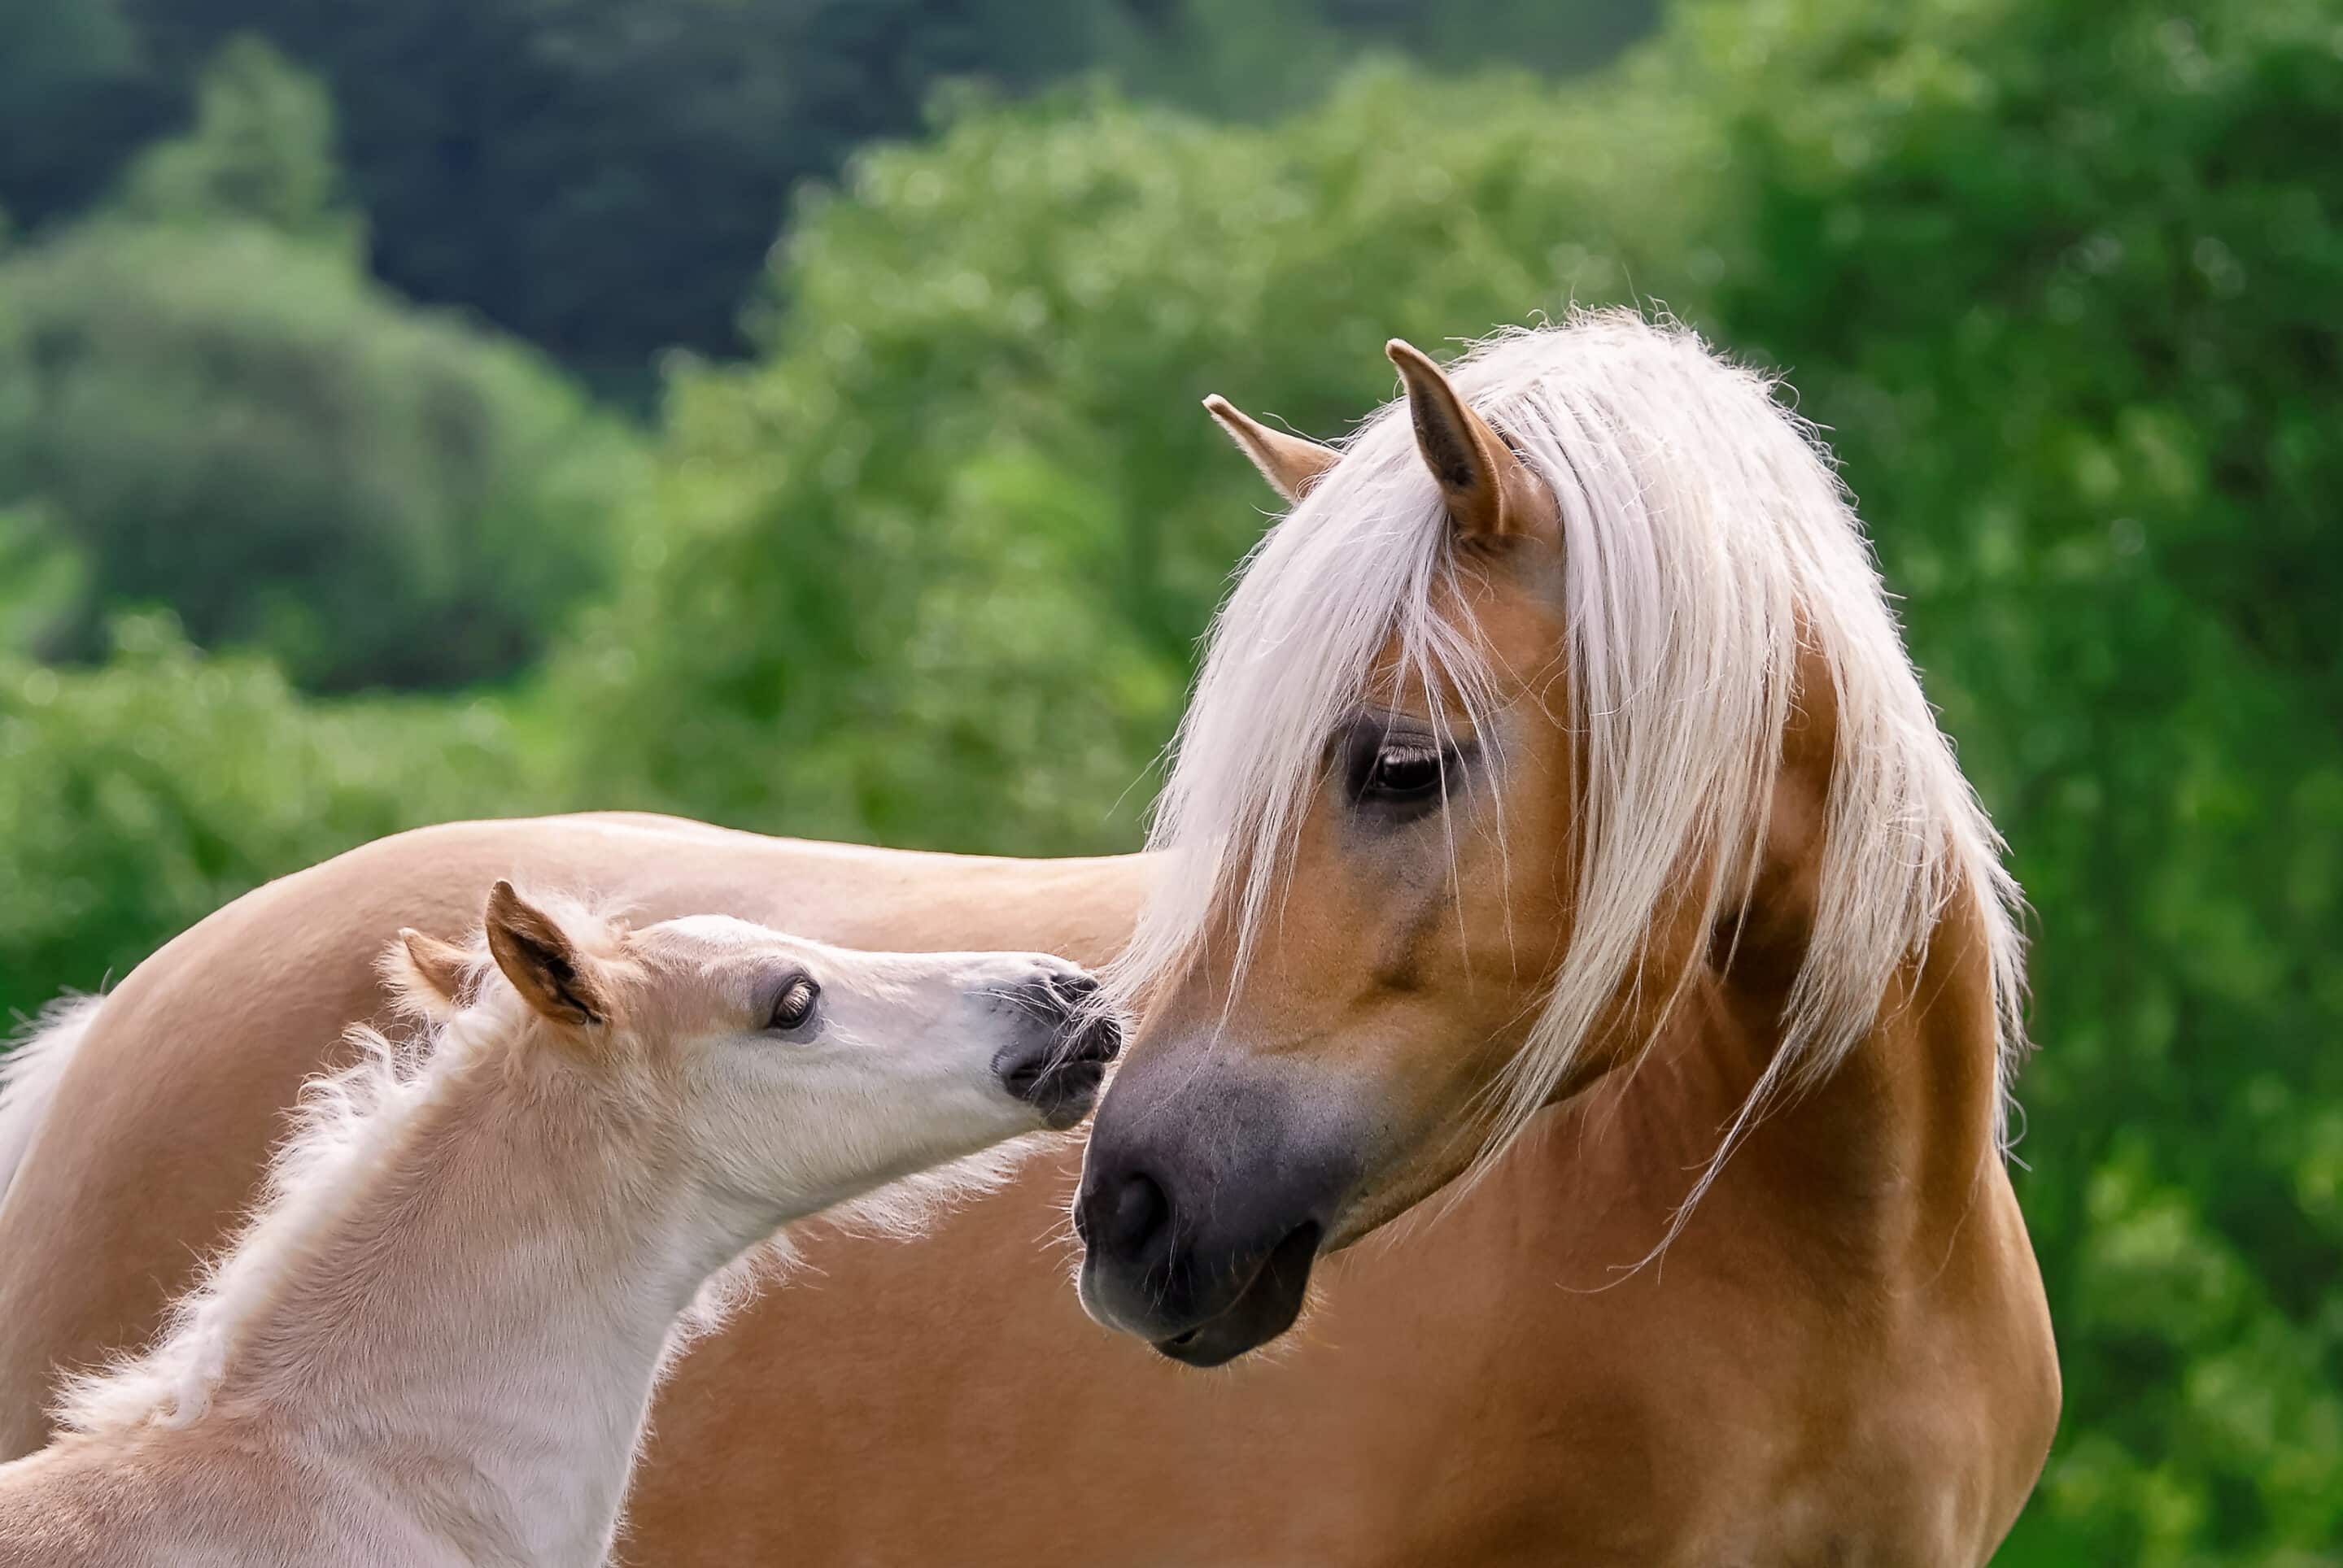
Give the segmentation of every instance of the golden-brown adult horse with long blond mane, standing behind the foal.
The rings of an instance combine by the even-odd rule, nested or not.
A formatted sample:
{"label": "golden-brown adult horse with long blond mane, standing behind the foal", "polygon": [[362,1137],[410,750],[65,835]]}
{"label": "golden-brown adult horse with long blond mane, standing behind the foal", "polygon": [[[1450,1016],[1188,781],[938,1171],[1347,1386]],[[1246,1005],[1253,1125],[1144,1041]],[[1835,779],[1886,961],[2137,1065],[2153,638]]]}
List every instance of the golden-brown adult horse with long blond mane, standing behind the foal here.
{"label": "golden-brown adult horse with long blond mane, standing behind the foal", "polygon": [[[1216,408],[1300,499],[1162,855],[436,827],[75,1015],[12,1109],[47,1104],[0,1200],[0,1437],[230,1223],[380,1008],[349,954],[499,874],[1085,963],[1148,905],[1078,1216],[1092,1308],[1169,1355],[1066,1289],[1064,1151],[921,1247],[813,1245],[665,1385],[635,1561],[1982,1561],[2059,1402],[1999,1148],[2017,947],[1856,520],[1687,333],[1579,319],[1453,384],[1394,356],[1340,457]],[[1284,1329],[1305,1270],[1268,1364],[1179,1364]]]}

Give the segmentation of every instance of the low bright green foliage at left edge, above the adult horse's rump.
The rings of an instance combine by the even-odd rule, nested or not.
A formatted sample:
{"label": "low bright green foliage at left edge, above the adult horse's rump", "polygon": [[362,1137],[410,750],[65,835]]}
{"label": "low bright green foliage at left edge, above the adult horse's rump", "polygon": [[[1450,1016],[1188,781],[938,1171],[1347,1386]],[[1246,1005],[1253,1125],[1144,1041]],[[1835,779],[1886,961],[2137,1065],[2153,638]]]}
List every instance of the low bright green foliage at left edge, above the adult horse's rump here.
{"label": "low bright green foliage at left edge, above the adult horse's rump", "polygon": [[119,980],[269,877],[544,799],[485,703],[326,708],[169,619],[117,633],[103,670],[0,654],[0,1020]]}

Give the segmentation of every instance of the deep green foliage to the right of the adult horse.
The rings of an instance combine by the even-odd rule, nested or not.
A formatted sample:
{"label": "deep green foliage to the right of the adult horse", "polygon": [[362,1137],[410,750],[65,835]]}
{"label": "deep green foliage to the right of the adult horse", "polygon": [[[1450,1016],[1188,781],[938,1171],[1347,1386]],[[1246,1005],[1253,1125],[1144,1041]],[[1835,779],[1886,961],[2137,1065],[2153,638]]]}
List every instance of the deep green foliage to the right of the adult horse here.
{"label": "deep green foliage to the right of the adult horse", "polygon": [[1835,427],[2041,909],[2069,1441],[2010,1561],[2331,1549],[2336,9],[1689,21],[1746,223],[1717,330]]}

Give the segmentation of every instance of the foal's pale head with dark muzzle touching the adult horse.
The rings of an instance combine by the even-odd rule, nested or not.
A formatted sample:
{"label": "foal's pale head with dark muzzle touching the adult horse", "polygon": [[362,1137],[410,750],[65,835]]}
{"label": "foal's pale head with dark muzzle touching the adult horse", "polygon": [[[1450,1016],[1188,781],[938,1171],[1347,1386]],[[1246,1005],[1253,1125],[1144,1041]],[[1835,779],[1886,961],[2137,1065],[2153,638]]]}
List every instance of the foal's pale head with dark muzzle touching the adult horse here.
{"label": "foal's pale head with dark muzzle touching the adult horse", "polygon": [[583,1076],[743,1238],[1071,1127],[1120,1045],[1097,982],[1047,954],[853,952],[719,914],[630,930],[504,881],[478,947],[408,930],[394,968],[424,1010]]}

